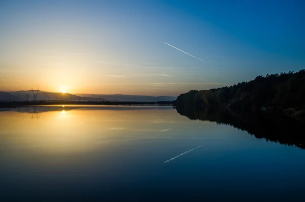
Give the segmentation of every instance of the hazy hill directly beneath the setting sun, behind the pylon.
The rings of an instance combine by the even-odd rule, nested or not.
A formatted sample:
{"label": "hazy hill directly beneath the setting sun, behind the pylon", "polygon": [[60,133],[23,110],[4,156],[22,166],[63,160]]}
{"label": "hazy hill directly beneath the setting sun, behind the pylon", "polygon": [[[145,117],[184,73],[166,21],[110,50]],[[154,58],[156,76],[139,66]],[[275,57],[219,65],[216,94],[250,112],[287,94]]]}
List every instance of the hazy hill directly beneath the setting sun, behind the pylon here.
{"label": "hazy hill directly beneath the setting sun, behind the pylon", "polygon": [[[16,100],[18,100],[20,96],[20,101],[26,100],[27,95],[29,100],[33,100],[34,98],[31,91],[16,91],[7,93],[14,96]],[[37,100],[105,101],[103,98],[82,97],[70,93],[50,93],[45,91],[41,91],[37,95]]]}

